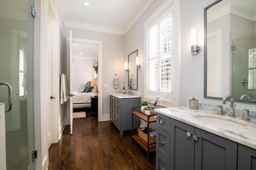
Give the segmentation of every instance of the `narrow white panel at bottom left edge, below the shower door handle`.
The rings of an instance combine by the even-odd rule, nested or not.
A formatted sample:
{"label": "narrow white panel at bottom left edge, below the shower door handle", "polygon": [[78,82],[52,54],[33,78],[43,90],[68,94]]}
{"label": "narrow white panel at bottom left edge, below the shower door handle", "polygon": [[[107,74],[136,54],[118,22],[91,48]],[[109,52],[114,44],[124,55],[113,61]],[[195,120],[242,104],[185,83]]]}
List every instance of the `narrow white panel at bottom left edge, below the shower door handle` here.
{"label": "narrow white panel at bottom left edge, below the shower door handle", "polygon": [[6,170],[6,144],[5,144],[5,112],[4,103],[0,103],[0,165]]}

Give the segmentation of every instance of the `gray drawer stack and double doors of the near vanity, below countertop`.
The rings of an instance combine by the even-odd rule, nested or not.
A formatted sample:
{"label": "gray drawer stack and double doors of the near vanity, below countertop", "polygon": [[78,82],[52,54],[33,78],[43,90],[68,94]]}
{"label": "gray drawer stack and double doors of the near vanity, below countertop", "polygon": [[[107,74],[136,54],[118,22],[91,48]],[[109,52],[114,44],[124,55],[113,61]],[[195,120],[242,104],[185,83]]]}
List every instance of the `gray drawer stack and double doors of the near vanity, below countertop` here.
{"label": "gray drawer stack and double doors of the near vanity, below countertop", "polygon": [[[156,140],[156,169],[164,166],[170,167],[170,170],[236,170],[236,142],[172,118],[169,118],[168,133],[160,128],[168,125],[168,121],[161,121],[163,117],[168,120],[168,117],[157,114],[157,134],[160,139]],[[169,144],[166,139],[168,134]]]}

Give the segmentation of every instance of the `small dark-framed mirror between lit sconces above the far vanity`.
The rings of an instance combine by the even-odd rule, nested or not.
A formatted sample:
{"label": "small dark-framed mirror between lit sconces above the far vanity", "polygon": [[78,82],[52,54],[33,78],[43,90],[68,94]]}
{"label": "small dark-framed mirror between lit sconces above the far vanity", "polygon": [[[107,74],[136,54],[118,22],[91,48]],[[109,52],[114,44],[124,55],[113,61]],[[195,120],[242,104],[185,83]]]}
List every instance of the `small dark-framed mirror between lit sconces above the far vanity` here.
{"label": "small dark-framed mirror between lit sconces above the far vanity", "polygon": [[136,57],[138,49],[128,55],[128,87],[131,90],[138,90],[138,69],[136,67]]}

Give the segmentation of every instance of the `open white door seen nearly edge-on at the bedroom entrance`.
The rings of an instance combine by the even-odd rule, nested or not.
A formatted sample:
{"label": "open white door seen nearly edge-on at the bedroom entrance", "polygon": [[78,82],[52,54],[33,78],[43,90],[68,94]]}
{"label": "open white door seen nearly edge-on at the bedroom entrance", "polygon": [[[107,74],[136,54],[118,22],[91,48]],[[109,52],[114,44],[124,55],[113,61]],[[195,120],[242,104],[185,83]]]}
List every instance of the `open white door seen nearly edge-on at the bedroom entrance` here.
{"label": "open white door seen nearly edge-on at the bedroom entrance", "polygon": [[72,60],[72,31],[70,30],[70,38],[67,37],[67,77],[69,85],[70,99],[67,100],[67,113],[70,113],[70,134],[73,134],[73,60]]}

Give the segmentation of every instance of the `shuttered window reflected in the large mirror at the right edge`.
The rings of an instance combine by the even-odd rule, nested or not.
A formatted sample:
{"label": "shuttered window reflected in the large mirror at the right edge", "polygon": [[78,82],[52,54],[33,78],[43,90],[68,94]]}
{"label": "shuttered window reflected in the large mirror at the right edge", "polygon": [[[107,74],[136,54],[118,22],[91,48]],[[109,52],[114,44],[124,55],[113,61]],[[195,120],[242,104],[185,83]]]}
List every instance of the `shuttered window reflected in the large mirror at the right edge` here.
{"label": "shuttered window reflected in the large mirror at the right edge", "polygon": [[248,89],[256,89],[256,48],[248,50]]}

